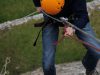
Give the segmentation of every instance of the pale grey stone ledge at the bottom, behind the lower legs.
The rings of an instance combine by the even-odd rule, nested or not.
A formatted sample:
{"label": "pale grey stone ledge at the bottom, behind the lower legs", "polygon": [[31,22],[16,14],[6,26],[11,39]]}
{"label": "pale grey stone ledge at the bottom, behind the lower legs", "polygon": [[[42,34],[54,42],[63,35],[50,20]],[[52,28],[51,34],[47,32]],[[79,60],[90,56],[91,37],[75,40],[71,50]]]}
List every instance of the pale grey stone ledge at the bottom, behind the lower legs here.
{"label": "pale grey stone ledge at the bottom, behind the lower legs", "polygon": [[[97,70],[100,73],[100,62]],[[57,75],[85,75],[85,69],[80,61],[56,65]],[[21,75],[43,75],[42,68]]]}

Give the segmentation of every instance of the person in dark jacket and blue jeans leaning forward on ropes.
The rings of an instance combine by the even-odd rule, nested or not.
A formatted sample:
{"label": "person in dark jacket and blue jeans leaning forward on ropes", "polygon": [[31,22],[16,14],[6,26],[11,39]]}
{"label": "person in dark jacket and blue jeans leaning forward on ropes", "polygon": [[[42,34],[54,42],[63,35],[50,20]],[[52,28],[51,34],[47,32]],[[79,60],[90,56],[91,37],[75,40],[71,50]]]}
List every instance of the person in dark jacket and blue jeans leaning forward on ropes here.
{"label": "person in dark jacket and blue jeans leaning forward on ropes", "polygon": [[[33,0],[37,11],[41,12],[41,4],[40,0]],[[53,17],[67,17],[71,18],[70,22],[76,25],[78,28],[82,29],[83,31],[95,36],[95,33],[90,25],[87,7],[86,7],[86,0],[65,0],[65,4],[63,9]],[[70,17],[71,16],[71,17]],[[44,19],[46,20],[47,17],[44,15]],[[65,27],[64,36],[73,36],[75,34],[77,37],[85,42],[91,43],[98,49],[100,49],[100,43],[95,41],[94,39],[82,34],[78,30],[74,30],[74,28],[68,26]],[[48,22],[47,26],[42,30],[42,43],[43,43],[43,72],[44,75],[56,75],[56,68],[55,68],[55,52],[56,52],[56,45],[53,44],[54,41],[58,41],[58,33],[59,33],[59,26],[57,23]],[[48,38],[48,39],[47,39]],[[86,69],[86,75],[99,75],[96,70],[97,63],[100,58],[100,52],[97,52],[94,48],[83,44],[84,47],[87,49],[87,52],[82,60],[82,64]]]}

